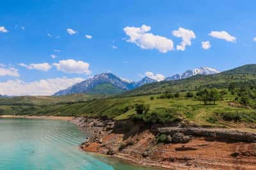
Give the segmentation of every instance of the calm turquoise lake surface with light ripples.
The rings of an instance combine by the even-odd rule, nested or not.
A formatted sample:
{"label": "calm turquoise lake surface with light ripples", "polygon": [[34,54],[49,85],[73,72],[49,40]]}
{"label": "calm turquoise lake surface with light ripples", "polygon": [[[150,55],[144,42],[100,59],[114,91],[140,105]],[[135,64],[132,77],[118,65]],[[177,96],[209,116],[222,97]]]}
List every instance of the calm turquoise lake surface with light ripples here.
{"label": "calm turquoise lake surface with light ripples", "polygon": [[70,122],[0,118],[0,169],[152,170],[83,152],[85,138]]}

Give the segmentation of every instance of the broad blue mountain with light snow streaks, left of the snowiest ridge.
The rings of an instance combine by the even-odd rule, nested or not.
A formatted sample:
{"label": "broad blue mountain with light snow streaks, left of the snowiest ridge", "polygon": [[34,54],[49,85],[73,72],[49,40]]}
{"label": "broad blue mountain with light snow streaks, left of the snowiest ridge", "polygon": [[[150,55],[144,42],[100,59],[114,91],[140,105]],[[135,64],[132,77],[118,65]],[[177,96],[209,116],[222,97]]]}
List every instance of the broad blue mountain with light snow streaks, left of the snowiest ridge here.
{"label": "broad blue mountain with light snow streaks, left of the snowiest ridge", "polygon": [[68,89],[60,90],[53,94],[53,96],[63,96],[68,94],[88,93],[88,94],[115,94],[124,92],[125,90],[132,90],[141,85],[152,83],[156,80],[145,77],[138,82],[119,78],[112,73],[101,73],[95,75],[93,78],[84,80],[80,83],[68,87]]}

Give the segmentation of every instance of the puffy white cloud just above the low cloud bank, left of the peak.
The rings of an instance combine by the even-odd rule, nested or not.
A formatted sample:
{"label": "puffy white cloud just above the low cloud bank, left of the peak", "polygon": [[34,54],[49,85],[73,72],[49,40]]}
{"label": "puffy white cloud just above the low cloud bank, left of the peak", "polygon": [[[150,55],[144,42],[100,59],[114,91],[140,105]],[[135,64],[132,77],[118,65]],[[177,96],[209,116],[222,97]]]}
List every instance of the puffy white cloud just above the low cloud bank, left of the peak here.
{"label": "puffy white cloud just above the low cloud bank, left of the peak", "polygon": [[58,63],[52,64],[56,66],[58,71],[63,71],[65,73],[76,73],[76,74],[90,74],[89,70],[90,64],[83,61],[76,61],[73,59],[60,60]]}

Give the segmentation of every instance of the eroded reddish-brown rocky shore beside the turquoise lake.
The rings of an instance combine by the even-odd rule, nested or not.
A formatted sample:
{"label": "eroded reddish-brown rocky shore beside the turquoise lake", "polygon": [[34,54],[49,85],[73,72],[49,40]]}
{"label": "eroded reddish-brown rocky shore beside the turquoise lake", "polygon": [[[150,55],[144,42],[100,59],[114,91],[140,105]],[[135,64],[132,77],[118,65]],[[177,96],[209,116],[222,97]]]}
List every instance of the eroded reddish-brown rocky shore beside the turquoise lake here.
{"label": "eroded reddish-brown rocky shore beside the turquoise lake", "polygon": [[[92,134],[86,152],[166,169],[256,169],[256,133],[202,127],[148,126],[131,120],[73,118]],[[159,143],[159,136],[165,136]],[[158,141],[157,141],[158,140]]]}

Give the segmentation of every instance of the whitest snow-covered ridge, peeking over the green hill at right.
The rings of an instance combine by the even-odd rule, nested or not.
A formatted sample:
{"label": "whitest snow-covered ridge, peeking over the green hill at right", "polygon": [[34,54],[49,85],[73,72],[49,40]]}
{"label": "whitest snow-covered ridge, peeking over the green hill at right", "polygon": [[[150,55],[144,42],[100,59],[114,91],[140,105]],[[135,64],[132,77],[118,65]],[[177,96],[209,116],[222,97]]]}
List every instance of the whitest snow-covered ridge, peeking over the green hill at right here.
{"label": "whitest snow-covered ridge, peeking over the green hill at right", "polygon": [[217,73],[220,73],[220,71],[218,71],[217,69],[214,69],[211,67],[200,67],[196,69],[189,69],[182,74],[175,74],[173,76],[167,77],[165,78],[165,81],[180,80],[180,79],[189,78],[195,75],[208,75],[208,74],[217,74]]}

